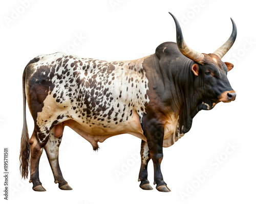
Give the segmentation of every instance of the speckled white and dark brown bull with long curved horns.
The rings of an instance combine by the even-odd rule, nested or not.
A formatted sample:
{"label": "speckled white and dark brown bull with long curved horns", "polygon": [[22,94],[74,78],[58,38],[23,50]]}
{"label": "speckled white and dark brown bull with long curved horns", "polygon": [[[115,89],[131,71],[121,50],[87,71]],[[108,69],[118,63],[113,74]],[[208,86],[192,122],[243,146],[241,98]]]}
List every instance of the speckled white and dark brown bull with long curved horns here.
{"label": "speckled white and dark brown bull with long curved horns", "polygon": [[[58,163],[63,130],[69,126],[94,150],[98,142],[115,135],[128,133],[140,138],[140,188],[152,189],[147,180],[147,164],[152,159],[157,190],[170,191],[160,169],[163,147],[187,133],[199,111],[236,98],[227,79],[233,65],[221,61],[237,36],[234,21],[231,19],[229,39],[214,53],[204,54],[186,45],[179,22],[173,18],[177,43],[164,42],[155,54],[141,59],[102,61],[55,53],[28,63],[23,73],[20,171],[27,178],[30,163],[33,190],[45,191],[38,171],[43,149],[55,183],[62,190],[72,189]],[[34,119],[30,139],[26,100]]]}

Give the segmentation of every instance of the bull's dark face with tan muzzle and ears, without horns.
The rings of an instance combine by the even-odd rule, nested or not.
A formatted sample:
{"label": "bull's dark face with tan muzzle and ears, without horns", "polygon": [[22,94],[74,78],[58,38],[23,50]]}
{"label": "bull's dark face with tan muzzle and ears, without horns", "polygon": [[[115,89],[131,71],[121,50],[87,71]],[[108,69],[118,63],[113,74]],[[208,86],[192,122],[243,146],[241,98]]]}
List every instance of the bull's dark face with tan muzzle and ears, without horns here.
{"label": "bull's dark face with tan muzzle and ears, without horns", "polygon": [[203,109],[210,110],[219,102],[228,103],[236,99],[236,92],[231,88],[227,72],[233,68],[229,62],[222,62],[215,54],[203,54],[204,63],[195,63],[191,71],[196,75],[195,87],[202,94]]}

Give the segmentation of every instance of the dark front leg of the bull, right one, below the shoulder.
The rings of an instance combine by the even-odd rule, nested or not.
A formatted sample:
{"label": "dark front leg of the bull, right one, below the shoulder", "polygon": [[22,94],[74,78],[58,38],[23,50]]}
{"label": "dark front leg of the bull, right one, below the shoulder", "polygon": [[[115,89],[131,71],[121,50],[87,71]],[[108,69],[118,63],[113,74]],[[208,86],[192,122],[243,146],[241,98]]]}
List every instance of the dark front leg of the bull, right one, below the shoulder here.
{"label": "dark front leg of the bull, right one, below the shoulder", "polygon": [[163,137],[164,126],[159,122],[148,122],[144,126],[144,134],[147,139],[147,145],[150,150],[150,158],[154,165],[154,184],[157,184],[156,189],[162,192],[170,192],[166,183],[163,181],[161,172],[161,162],[163,159]]}

